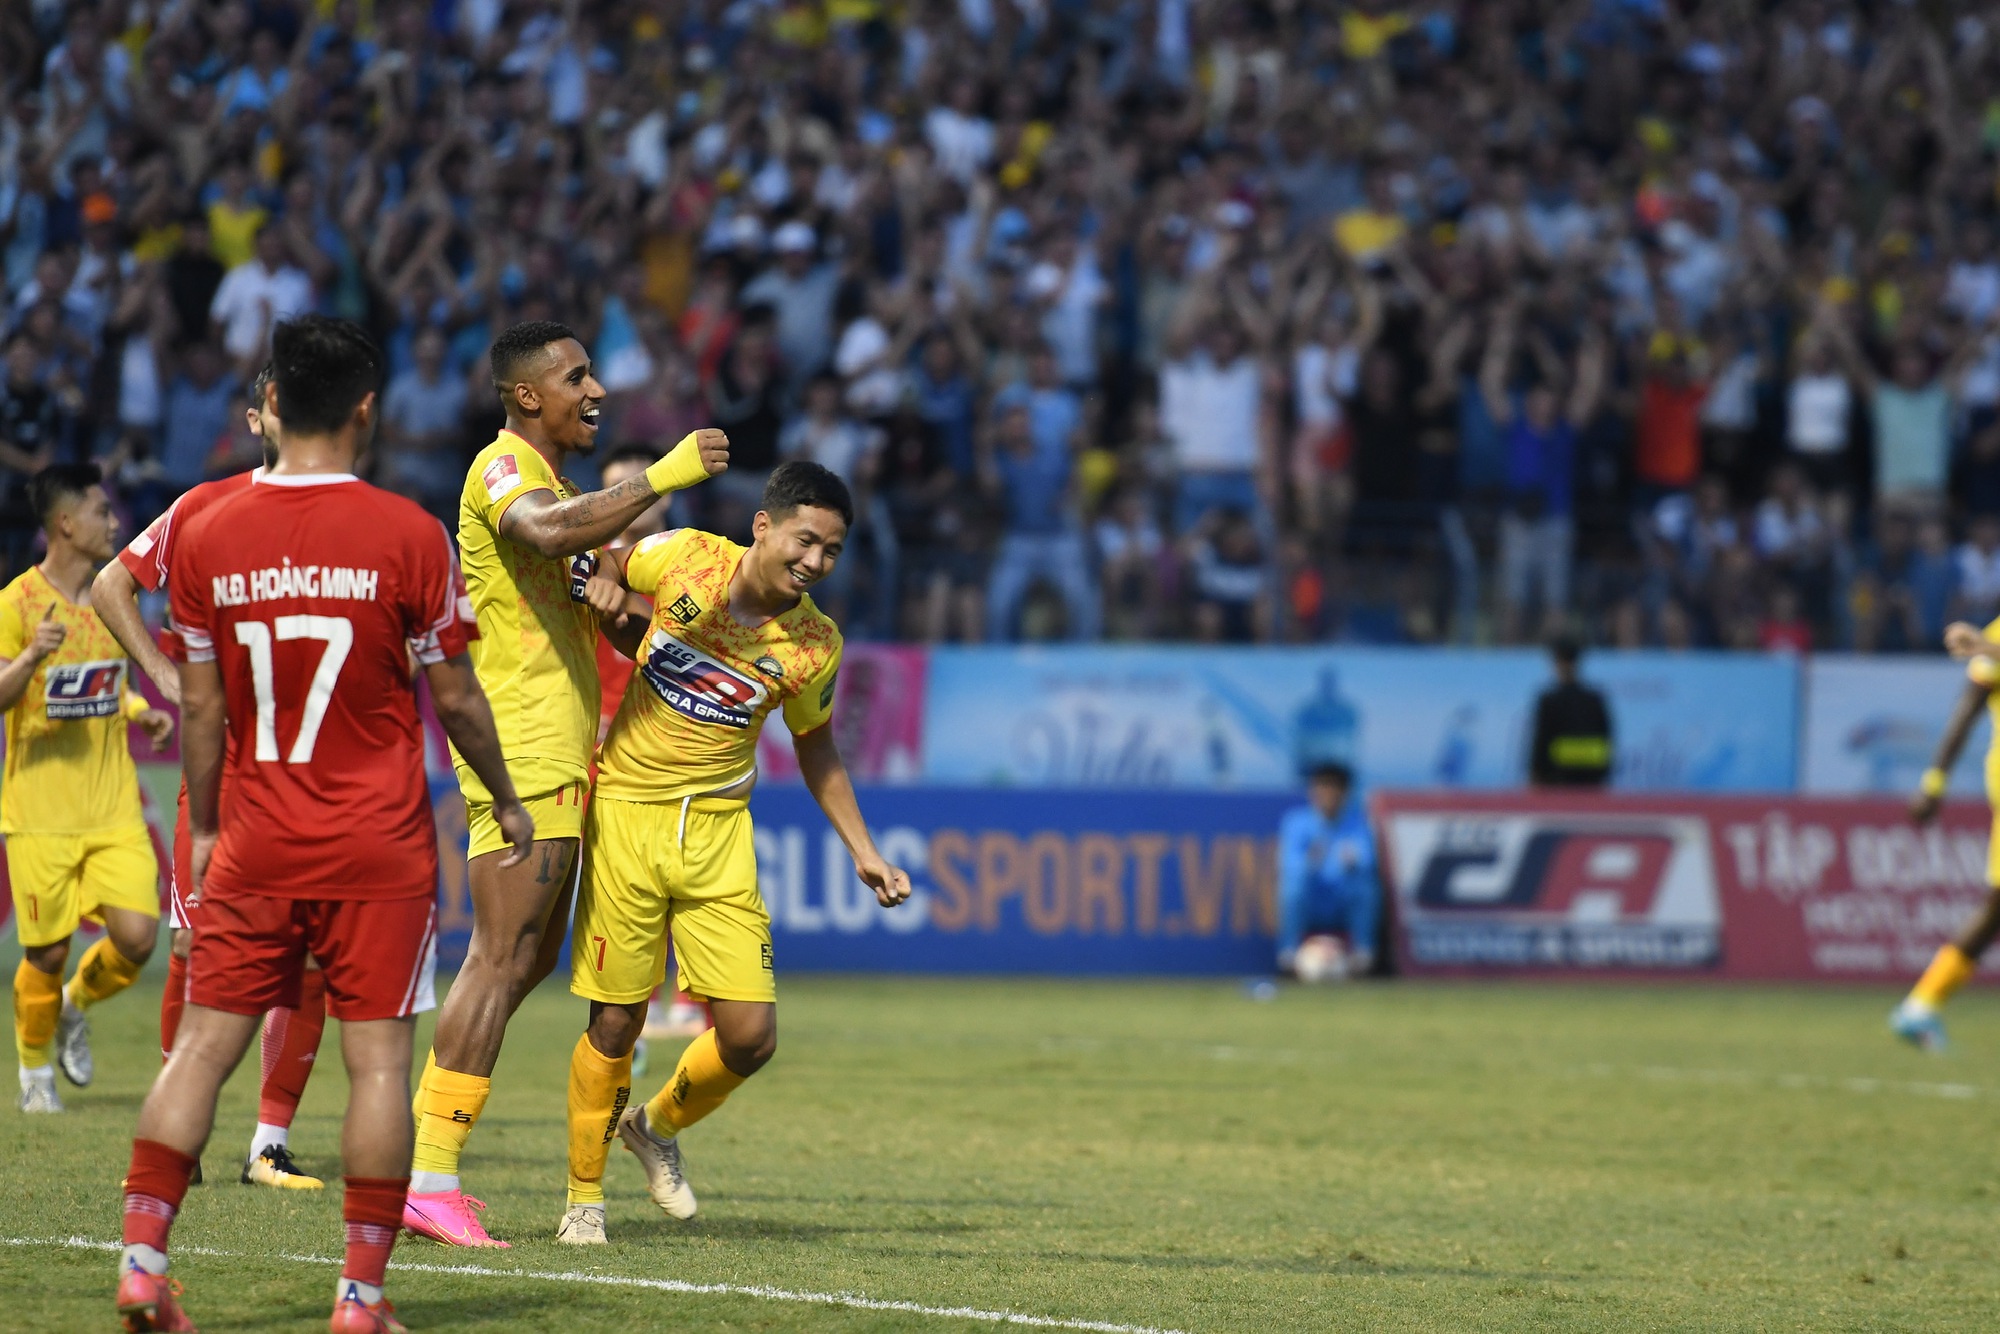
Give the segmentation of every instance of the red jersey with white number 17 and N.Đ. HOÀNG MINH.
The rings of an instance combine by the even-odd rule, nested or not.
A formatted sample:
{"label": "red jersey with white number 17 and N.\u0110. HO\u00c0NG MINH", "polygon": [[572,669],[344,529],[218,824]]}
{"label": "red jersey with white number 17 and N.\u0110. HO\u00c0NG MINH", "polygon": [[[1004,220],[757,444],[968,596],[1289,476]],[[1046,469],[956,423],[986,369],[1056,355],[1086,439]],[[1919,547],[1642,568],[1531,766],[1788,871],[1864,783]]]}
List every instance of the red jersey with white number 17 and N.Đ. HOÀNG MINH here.
{"label": "red jersey with white number 17 and N.\u0110. HO\u00c0NG MINH", "polygon": [[354,476],[266,476],[178,544],[174,624],[220,666],[228,718],[204,894],[434,894],[406,646],[434,664],[476,636],[444,526]]}

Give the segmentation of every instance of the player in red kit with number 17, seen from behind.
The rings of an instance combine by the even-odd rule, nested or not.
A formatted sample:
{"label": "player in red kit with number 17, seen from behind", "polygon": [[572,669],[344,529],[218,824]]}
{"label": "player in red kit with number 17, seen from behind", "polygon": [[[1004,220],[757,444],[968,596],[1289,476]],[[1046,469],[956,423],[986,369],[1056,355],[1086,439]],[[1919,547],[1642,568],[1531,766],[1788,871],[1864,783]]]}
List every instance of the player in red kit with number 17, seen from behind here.
{"label": "player in red kit with number 17, seen from behind", "polygon": [[534,820],[514,794],[466,644],[450,538],[354,476],[382,354],[344,320],[272,332],[278,466],[198,516],[168,574],[180,670],[190,870],[200,896],[188,1008],[132,1142],[118,1312],[192,1330],[166,1238],[216,1094],[258,1018],[298,1002],[306,954],[342,1022],[346,1262],[332,1330],[402,1330],[382,1296],[410,1184],[410,1040],[434,1004],[438,844],[414,654],[446,734],[494,794],[514,858]]}

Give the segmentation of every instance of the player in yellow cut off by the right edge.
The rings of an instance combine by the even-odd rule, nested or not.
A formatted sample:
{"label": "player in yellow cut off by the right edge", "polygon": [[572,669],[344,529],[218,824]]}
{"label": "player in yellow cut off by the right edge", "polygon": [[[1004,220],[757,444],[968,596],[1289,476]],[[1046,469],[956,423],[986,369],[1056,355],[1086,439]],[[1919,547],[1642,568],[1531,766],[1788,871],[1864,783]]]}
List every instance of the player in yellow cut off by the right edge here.
{"label": "player in yellow cut off by the right edge", "polygon": [[1944,790],[1950,786],[1952,766],[1958,752],[1966,748],[1972,726],[1980,720],[1980,710],[1990,710],[1996,722],[1994,740],[1986,748],[1986,800],[1994,806],[1994,834],[1986,848],[1986,904],[1966,922],[1958,938],[1938,946],[1930,968],[1916,980],[1910,994],[1888,1016],[1888,1026],[1898,1038],[1928,1052],[1944,1050],[1944,1002],[1964,986],[1980,966],[1980,956],[2000,936],[2000,700],[1994,686],[2000,686],[2000,620],[1986,626],[1984,634],[1970,624],[1954,622],[1944,630],[1944,646],[1954,658],[1966,662],[1966,688],[1944,724],[1938,738],[1938,752],[1924,770],[1916,796],[1910,798],[1910,818],[1930,824],[1944,804]]}

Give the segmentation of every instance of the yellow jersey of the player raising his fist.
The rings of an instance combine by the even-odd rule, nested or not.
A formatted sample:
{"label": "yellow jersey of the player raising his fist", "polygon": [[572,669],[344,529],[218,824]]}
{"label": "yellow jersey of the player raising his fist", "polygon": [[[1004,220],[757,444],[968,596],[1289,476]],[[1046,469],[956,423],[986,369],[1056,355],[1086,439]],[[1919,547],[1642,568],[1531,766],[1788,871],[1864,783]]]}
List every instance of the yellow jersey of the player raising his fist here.
{"label": "yellow jersey of the player raising his fist", "polygon": [[[578,494],[510,430],[480,450],[466,474],[458,560],[480,624],[472,670],[492,704],[510,772],[520,772],[518,760],[554,760],[582,774],[598,740],[598,618],[584,602],[598,556],[540,556],[500,536],[500,516],[536,490],[562,500]],[[456,748],[452,758],[464,768]]]}

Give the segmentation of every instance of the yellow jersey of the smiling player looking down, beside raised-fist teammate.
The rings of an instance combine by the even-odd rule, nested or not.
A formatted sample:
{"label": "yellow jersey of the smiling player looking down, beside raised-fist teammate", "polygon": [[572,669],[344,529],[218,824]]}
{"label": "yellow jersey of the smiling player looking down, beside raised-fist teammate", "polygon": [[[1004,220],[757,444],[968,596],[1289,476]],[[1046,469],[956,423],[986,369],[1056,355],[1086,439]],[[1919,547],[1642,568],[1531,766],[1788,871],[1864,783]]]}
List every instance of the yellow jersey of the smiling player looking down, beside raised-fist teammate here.
{"label": "yellow jersey of the smiling player looking down, beside raised-fist teammate", "polygon": [[812,598],[746,626],[730,614],[744,548],[694,528],[638,542],[626,586],[652,598],[638,670],[598,754],[598,792],[678,802],[756,774],[756,738],[772,710],[794,736],[834,714],[840,626]]}

